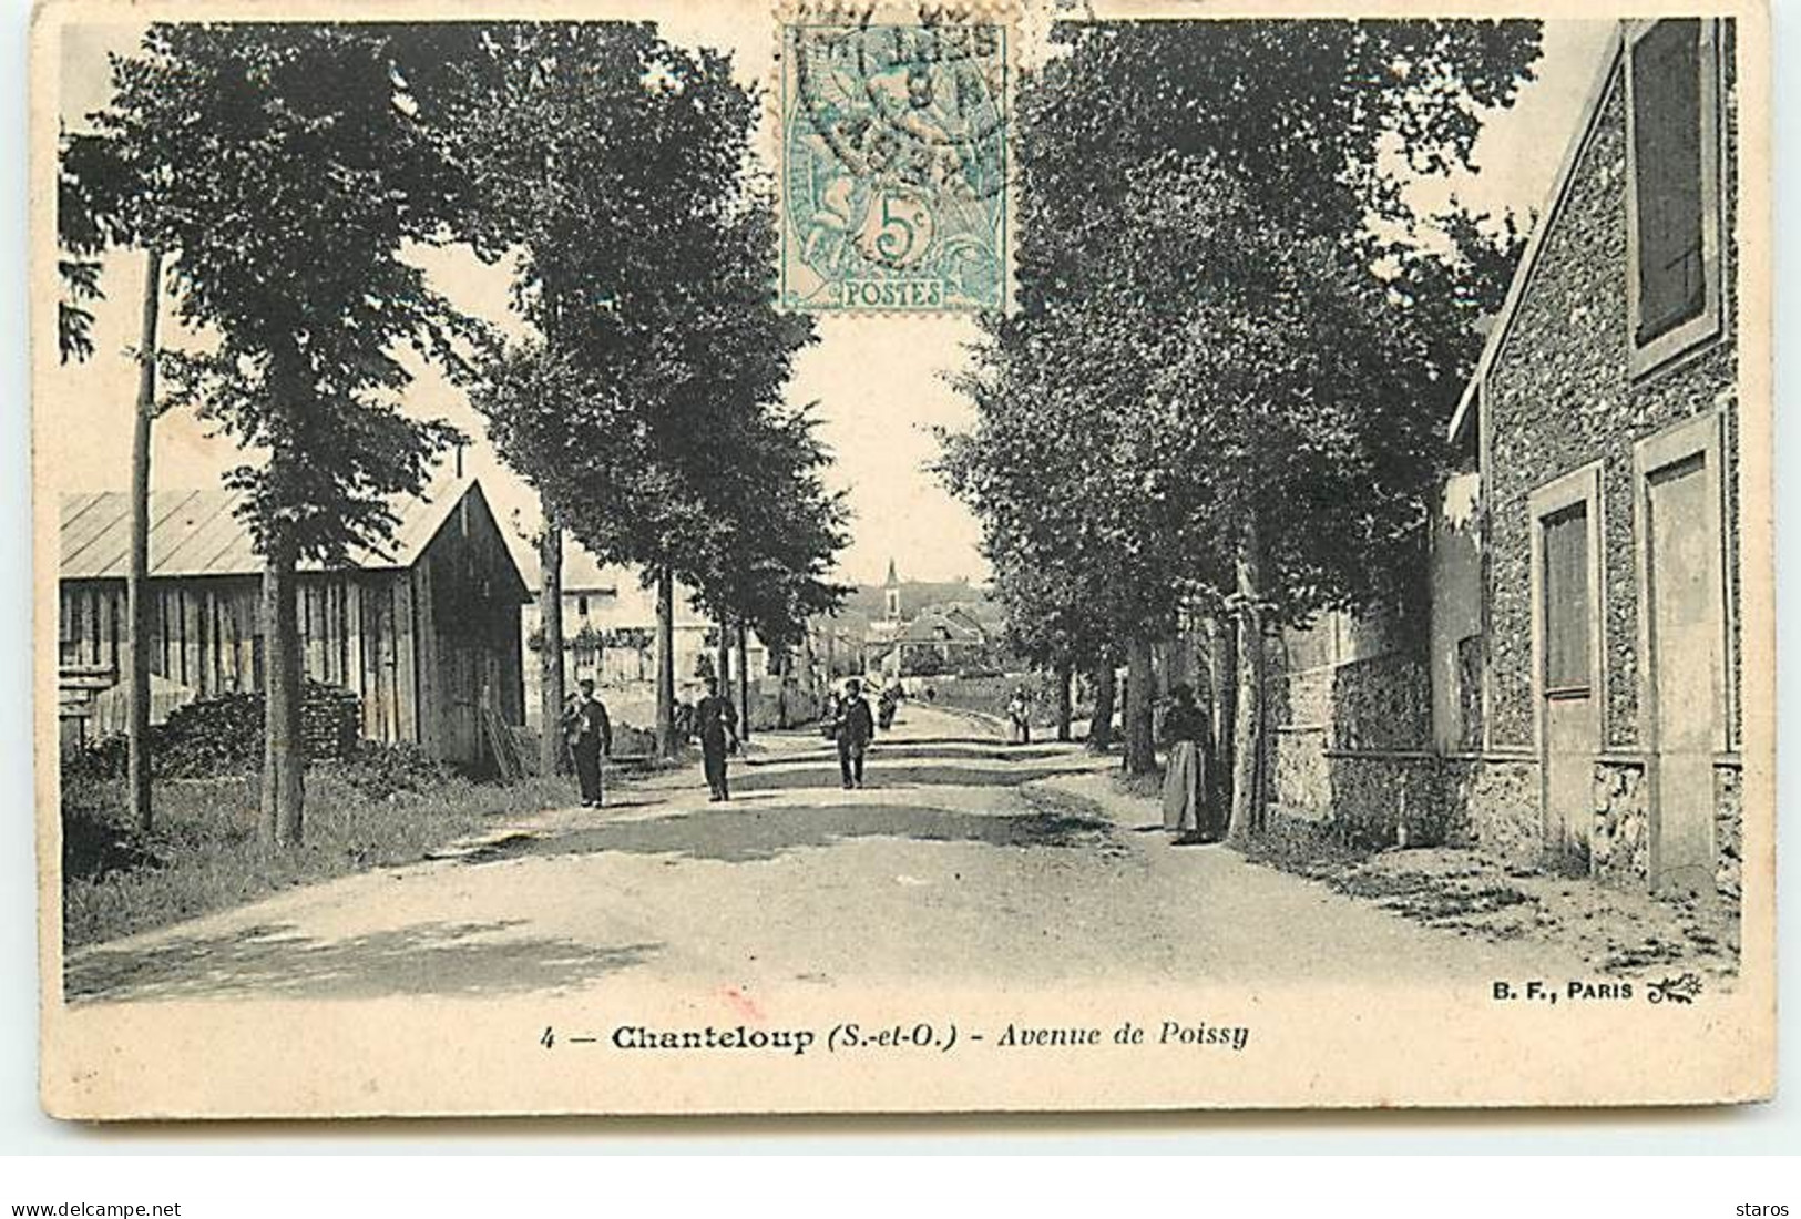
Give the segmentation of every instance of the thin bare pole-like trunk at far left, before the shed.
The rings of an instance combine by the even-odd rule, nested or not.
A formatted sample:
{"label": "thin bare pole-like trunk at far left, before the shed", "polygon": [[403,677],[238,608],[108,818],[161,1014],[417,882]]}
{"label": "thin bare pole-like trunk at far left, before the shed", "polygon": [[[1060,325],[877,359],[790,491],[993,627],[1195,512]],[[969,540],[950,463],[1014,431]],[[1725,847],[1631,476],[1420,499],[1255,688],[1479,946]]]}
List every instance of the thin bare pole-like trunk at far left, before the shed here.
{"label": "thin bare pole-like trunk at far left, before the shed", "polygon": [[137,349],[137,414],[131,420],[131,555],[124,576],[130,619],[126,672],[126,785],[131,821],[148,830],[149,808],[149,425],[157,416],[157,313],[162,306],[162,250],[144,259],[144,326]]}

